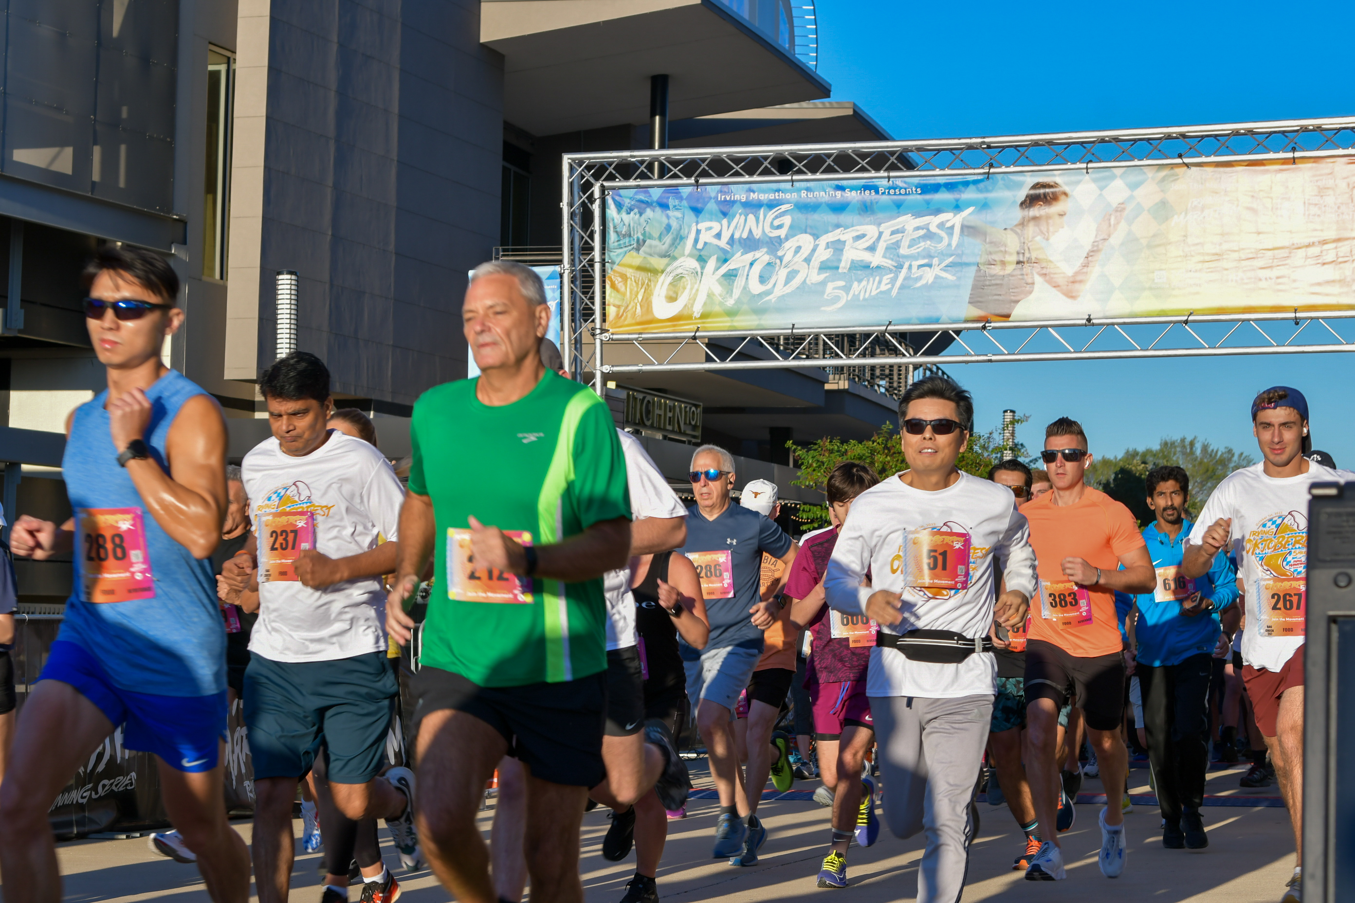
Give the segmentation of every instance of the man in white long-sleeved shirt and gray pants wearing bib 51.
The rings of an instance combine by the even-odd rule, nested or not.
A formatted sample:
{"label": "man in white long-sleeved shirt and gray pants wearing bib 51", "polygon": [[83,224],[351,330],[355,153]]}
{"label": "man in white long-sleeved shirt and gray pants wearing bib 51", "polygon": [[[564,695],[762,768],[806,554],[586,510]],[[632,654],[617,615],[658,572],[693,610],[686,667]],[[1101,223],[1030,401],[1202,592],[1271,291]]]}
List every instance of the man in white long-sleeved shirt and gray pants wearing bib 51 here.
{"label": "man in white long-sleeved shirt and gray pants wearing bib 51", "polygon": [[[974,408],[944,376],[908,387],[898,405],[908,470],[852,502],[824,590],[841,612],[879,623],[870,699],[885,784],[885,822],[927,833],[919,903],[963,892],[978,827],[974,784],[988,741],[997,665],[989,628],[1026,621],[1035,554],[1005,486],[955,467]],[[993,559],[1007,592],[993,592]]]}

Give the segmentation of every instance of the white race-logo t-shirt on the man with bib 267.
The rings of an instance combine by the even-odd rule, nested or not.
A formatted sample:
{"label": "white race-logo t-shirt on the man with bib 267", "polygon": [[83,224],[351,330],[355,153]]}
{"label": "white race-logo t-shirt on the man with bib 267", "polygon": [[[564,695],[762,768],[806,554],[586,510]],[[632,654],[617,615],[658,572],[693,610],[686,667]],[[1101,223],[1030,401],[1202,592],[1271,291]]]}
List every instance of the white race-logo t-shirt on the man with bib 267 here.
{"label": "white race-logo t-shirt on the man with bib 267", "polygon": [[1355,472],[1309,462],[1306,474],[1276,478],[1263,467],[1229,474],[1205,502],[1188,542],[1202,546],[1214,521],[1232,519],[1230,551],[1247,604],[1243,661],[1278,671],[1304,644],[1306,612],[1297,601],[1308,575],[1308,487],[1352,481]]}

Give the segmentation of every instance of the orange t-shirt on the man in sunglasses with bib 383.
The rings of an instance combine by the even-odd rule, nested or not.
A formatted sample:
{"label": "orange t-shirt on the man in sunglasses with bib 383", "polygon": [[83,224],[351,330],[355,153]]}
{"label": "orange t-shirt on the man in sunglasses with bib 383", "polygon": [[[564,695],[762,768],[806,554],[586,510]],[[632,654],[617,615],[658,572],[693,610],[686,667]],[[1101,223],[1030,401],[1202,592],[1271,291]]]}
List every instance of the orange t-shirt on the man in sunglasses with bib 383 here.
{"label": "orange t-shirt on the man in sunglasses with bib 383", "polygon": [[[1129,509],[1091,486],[1076,505],[1054,505],[1054,493],[1046,493],[1023,505],[1020,513],[1030,521],[1030,544],[1035,550],[1041,589],[1054,585],[1049,592],[1073,605],[1077,588],[1058,586],[1068,582],[1062,570],[1065,558],[1081,558],[1092,567],[1111,571],[1119,569],[1121,555],[1146,547]],[[1091,602],[1089,624],[1077,623],[1085,616],[1079,619],[1068,612],[1061,612],[1064,617],[1057,619],[1049,598],[1033,598],[1030,639],[1053,643],[1079,658],[1118,653],[1122,644],[1115,593],[1087,588],[1087,594]]]}

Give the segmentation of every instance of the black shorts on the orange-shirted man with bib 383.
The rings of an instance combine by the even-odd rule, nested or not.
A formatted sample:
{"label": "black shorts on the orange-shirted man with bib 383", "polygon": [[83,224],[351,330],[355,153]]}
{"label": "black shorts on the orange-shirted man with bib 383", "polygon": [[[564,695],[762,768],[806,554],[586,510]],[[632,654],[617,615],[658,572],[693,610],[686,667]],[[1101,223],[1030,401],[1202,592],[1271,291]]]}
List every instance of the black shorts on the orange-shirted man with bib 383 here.
{"label": "black shorts on the orange-shirted man with bib 383", "polygon": [[1119,653],[1080,658],[1033,639],[1026,642],[1026,705],[1049,699],[1062,708],[1077,696],[1087,727],[1119,730],[1125,720],[1125,658]]}

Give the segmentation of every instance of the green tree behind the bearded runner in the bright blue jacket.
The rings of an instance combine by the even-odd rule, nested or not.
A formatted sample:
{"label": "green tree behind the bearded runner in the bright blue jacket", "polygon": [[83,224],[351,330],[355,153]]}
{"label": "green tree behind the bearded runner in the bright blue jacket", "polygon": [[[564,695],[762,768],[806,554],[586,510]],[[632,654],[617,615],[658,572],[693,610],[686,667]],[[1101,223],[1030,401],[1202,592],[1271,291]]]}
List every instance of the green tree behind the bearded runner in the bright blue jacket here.
{"label": "green tree behind the bearded runner in the bright blue jacket", "polygon": [[1096,458],[1087,470],[1087,482],[1111,498],[1123,502],[1138,519],[1140,525],[1153,520],[1148,508],[1148,471],[1161,464],[1176,464],[1190,477],[1190,517],[1198,517],[1201,508],[1220,481],[1240,467],[1255,464],[1247,454],[1232,448],[1218,448],[1198,437],[1164,439],[1157,448],[1130,448],[1115,458]]}

